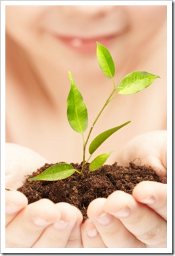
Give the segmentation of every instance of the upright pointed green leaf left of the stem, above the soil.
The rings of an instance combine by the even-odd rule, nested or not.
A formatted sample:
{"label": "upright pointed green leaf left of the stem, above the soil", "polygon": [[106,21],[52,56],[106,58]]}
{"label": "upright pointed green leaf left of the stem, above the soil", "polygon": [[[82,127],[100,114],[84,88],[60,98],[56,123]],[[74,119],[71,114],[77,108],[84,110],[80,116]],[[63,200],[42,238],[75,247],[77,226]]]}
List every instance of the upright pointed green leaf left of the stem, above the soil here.
{"label": "upright pointed green leaf left of the stem, above the soil", "polygon": [[67,119],[74,131],[83,133],[88,127],[88,110],[70,71],[69,78],[71,89],[67,98]]}

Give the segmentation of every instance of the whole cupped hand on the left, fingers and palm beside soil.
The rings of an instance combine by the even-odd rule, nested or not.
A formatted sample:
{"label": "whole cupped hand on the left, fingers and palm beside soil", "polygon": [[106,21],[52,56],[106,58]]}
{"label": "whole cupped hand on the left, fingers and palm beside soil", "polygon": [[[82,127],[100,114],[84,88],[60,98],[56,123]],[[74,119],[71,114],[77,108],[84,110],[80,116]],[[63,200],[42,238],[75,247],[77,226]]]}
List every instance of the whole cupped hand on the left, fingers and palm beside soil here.
{"label": "whole cupped hand on the left, fingers and palm beside soil", "polygon": [[68,203],[41,199],[28,205],[15,191],[26,174],[44,165],[44,158],[27,148],[7,143],[6,148],[6,247],[81,247],[79,210]]}

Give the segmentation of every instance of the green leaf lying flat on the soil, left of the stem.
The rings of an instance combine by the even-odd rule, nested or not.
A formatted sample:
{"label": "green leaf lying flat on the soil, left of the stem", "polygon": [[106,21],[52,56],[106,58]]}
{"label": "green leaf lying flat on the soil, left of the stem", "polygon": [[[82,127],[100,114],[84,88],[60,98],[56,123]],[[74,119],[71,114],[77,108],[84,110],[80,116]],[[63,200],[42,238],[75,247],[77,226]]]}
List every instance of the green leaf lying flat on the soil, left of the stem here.
{"label": "green leaf lying flat on the soil, left of the stem", "polygon": [[66,179],[75,172],[70,164],[60,163],[50,166],[38,176],[29,179],[29,181],[58,181]]}

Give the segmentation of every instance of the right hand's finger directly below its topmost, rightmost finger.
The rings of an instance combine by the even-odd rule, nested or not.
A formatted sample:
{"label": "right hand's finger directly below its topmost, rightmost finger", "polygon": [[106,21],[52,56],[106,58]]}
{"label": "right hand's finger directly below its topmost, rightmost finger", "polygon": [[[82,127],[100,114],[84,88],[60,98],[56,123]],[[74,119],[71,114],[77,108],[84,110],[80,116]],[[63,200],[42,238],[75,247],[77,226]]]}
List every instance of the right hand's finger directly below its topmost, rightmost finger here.
{"label": "right hand's finger directly below its topmost, rightmost finger", "polygon": [[166,246],[166,220],[146,205],[137,203],[132,195],[115,191],[108,197],[104,209],[147,247]]}

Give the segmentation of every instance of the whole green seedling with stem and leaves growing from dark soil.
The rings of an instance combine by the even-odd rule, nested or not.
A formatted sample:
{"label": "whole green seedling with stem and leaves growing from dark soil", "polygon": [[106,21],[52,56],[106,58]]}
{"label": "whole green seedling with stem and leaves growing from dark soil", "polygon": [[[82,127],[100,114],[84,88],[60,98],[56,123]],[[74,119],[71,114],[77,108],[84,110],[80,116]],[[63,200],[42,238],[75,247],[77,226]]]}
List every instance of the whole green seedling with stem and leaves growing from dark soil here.
{"label": "whole green seedling with stem and leaves growing from dark soil", "polygon": [[[135,94],[147,88],[153,83],[153,81],[156,78],[159,78],[158,75],[153,75],[145,71],[135,71],[123,77],[119,82],[118,86],[116,86],[114,82],[115,65],[112,56],[110,55],[110,52],[108,51],[108,49],[106,49],[104,45],[97,42],[96,54],[102,72],[104,73],[104,75],[106,75],[106,77],[108,77],[112,81],[112,92],[110,92],[110,95],[104,103],[104,106],[102,106],[100,113],[98,113],[98,116],[94,120],[94,123],[91,125],[90,131],[86,139],[84,137],[84,132],[88,128],[88,110],[85,106],[85,102],[83,101],[83,97],[81,96],[81,93],[79,92],[79,89],[75,84],[73,75],[69,71],[71,89],[69,91],[69,95],[67,98],[67,119],[72,129],[77,133],[80,133],[82,137],[83,161],[81,170],[76,170],[75,168],[73,168],[73,166],[71,166],[71,164],[59,163],[50,166],[49,168],[44,170],[44,172],[40,173],[38,176],[29,179],[29,181],[57,181],[61,179],[66,179],[75,172],[83,174],[85,164],[89,162],[90,158],[92,157],[94,152],[96,152],[96,150],[100,147],[100,145],[102,145],[102,143],[104,143],[104,141],[106,141],[106,139],[108,139],[108,137],[110,137],[113,133],[115,133],[120,128],[124,127],[125,125],[128,125],[131,122],[127,121],[125,123],[122,123],[122,125],[108,129],[107,131],[104,131],[100,133],[97,137],[95,137],[89,146],[90,156],[88,157],[88,160],[85,160],[86,149],[90,139],[90,135],[104,108],[106,108],[106,106],[108,106],[108,104],[112,100],[114,100],[114,98],[116,98],[119,94]],[[111,152],[107,152],[104,154],[100,154],[100,156],[94,158],[94,160],[92,160],[92,162],[90,163],[89,170],[94,171],[100,168],[100,166],[102,166],[106,162],[110,154]]]}

